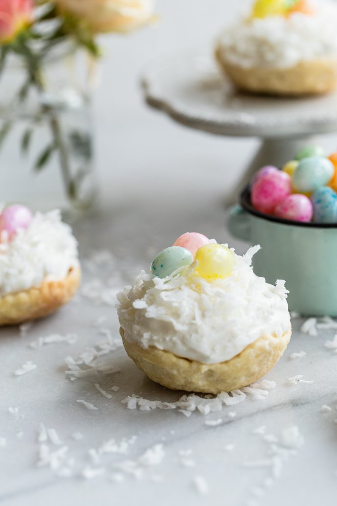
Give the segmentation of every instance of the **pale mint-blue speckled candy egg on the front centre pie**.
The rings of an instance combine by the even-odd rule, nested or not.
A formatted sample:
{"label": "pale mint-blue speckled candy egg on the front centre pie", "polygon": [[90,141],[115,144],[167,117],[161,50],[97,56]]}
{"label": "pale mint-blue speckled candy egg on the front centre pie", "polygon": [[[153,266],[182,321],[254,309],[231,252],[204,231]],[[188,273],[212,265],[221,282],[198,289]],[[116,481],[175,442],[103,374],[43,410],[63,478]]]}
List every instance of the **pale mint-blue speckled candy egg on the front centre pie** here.
{"label": "pale mint-blue speckled candy egg on the front centre pie", "polygon": [[193,262],[193,255],[186,248],[170,246],[158,253],[151,264],[151,274],[158,278],[166,278],[179,269]]}

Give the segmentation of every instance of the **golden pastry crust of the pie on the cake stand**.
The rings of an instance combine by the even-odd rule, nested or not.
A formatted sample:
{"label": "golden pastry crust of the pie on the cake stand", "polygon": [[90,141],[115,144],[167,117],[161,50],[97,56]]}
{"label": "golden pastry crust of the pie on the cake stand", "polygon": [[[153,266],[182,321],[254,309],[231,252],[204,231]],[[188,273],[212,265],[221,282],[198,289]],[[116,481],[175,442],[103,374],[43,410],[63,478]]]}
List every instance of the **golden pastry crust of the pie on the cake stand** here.
{"label": "golden pastry crust of the pie on the cake stand", "polygon": [[242,90],[284,96],[322,95],[337,88],[337,58],[302,61],[290,68],[244,68],[228,61],[220,47],[215,56],[222,70]]}

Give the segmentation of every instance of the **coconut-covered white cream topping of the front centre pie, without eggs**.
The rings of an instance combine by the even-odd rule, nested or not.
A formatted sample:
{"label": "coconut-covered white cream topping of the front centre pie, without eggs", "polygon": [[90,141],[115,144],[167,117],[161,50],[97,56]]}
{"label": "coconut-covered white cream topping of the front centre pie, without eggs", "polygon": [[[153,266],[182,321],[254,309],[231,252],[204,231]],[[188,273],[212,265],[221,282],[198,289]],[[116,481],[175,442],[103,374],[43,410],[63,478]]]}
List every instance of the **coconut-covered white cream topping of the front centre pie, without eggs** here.
{"label": "coconut-covered white cream topping of the front centre pie, without eggs", "polygon": [[276,286],[251,267],[259,246],[236,256],[231,277],[207,282],[191,275],[195,263],[160,279],[141,271],[134,285],[117,294],[125,338],[202,363],[219,363],[260,336],[291,328],[284,281]]}

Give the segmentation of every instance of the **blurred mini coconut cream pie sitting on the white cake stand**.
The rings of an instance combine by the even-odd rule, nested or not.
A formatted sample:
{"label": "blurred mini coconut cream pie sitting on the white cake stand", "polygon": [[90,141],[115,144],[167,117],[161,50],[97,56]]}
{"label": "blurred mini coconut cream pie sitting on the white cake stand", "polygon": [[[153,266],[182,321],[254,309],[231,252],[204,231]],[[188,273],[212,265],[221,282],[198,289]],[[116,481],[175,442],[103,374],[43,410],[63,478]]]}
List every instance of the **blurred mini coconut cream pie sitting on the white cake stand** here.
{"label": "blurred mini coconut cream pie sitting on the white cake stand", "polygon": [[328,0],[257,0],[219,37],[216,58],[240,89],[324,94],[337,87],[336,25]]}

